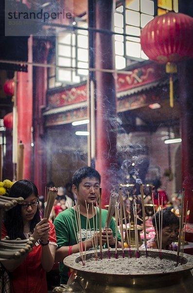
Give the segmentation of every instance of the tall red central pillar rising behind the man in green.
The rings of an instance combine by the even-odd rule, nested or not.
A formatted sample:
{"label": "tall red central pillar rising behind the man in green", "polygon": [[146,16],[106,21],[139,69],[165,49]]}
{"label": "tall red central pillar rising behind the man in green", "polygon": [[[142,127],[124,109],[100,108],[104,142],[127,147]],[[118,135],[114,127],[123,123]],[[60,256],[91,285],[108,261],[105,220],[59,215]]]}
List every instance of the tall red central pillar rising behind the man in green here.
{"label": "tall red central pillar rising behind the man in green", "polygon": [[[113,0],[95,1],[96,28],[113,31]],[[107,17],[108,16],[108,17]],[[102,206],[109,202],[110,190],[116,183],[116,88],[113,73],[100,69],[115,69],[114,35],[95,34],[96,69],[96,169],[102,177]]]}

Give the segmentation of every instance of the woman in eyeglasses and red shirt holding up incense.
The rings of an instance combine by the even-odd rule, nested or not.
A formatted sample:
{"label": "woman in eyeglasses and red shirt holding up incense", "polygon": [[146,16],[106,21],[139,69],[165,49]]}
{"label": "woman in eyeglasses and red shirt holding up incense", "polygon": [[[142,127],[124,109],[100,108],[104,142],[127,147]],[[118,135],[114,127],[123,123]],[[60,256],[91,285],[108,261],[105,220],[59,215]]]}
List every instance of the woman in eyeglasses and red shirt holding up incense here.
{"label": "woman in eyeglasses and red shirt holding up incense", "polygon": [[11,293],[47,293],[46,272],[53,268],[56,236],[53,224],[40,219],[38,191],[29,180],[19,180],[11,187],[10,197],[23,197],[22,205],[5,212],[1,238],[35,238],[33,251],[19,259],[2,261],[10,272]]}

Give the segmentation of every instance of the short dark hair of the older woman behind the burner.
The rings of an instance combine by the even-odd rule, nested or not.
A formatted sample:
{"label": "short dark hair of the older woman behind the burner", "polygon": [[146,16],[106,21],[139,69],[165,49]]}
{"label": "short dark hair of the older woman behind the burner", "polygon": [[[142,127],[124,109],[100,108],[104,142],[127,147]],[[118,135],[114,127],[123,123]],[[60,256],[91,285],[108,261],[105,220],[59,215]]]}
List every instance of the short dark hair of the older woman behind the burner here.
{"label": "short dark hair of the older woman behind the burner", "polygon": [[[159,228],[159,212],[156,212],[156,221],[155,216],[152,217],[152,224],[154,227]],[[160,210],[160,224],[161,224],[161,210]],[[163,209],[163,218],[162,218],[162,228],[170,227],[176,225],[179,228],[179,218],[172,212],[170,209]]]}

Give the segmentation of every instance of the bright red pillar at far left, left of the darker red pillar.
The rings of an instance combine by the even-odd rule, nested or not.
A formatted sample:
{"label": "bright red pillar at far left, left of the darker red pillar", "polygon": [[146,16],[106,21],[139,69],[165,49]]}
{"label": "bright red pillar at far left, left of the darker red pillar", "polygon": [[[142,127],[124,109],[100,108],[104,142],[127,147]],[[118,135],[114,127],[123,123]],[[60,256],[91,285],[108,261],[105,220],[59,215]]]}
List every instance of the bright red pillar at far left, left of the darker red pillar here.
{"label": "bright red pillar at far left, left of the darker red pillar", "polygon": [[[28,62],[32,62],[32,37],[28,39]],[[32,70],[32,65],[28,65],[28,72],[17,74],[18,143],[22,141],[24,145],[23,177],[26,179],[32,176]]]}

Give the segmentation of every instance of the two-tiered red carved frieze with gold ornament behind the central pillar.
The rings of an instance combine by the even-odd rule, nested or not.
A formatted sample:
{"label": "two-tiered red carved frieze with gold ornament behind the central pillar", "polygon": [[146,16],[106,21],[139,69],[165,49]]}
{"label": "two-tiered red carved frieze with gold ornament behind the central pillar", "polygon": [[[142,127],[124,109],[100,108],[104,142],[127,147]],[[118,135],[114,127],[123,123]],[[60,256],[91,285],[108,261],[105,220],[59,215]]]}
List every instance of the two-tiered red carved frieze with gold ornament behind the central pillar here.
{"label": "two-tiered red carved frieze with gold ornament behind the central pillar", "polygon": [[[165,76],[164,66],[157,64],[149,64],[143,67],[138,67],[132,71],[128,71],[127,75],[118,74],[116,80],[117,92],[125,92],[129,89],[136,88],[135,93],[125,93],[121,98],[117,99],[117,111],[123,112],[130,109],[140,108],[147,103],[154,100],[159,100],[159,97],[155,99],[154,96],[146,95],[146,93],[140,93],[137,87],[151,84],[154,82],[163,81]],[[63,89],[61,92],[57,92],[48,95],[48,105],[50,108],[58,108],[67,105],[77,104],[76,109],[64,110],[62,113],[50,114],[46,117],[46,126],[60,125],[71,123],[75,120],[81,120],[87,118],[87,107],[80,108],[78,105],[80,102],[87,101],[87,84],[82,84],[70,89]]]}

